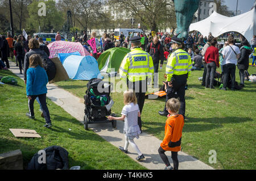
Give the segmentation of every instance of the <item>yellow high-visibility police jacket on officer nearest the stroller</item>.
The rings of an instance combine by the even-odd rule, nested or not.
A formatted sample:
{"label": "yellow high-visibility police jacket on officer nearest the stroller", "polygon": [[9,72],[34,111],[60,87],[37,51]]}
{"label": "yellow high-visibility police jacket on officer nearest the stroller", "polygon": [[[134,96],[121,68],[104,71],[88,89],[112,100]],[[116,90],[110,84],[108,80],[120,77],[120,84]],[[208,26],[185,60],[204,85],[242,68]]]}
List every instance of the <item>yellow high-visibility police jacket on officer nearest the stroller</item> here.
{"label": "yellow high-visibility police jacket on officer nearest the stroller", "polygon": [[123,58],[119,68],[121,79],[128,78],[130,82],[143,81],[154,73],[152,57],[141,48],[131,49]]}

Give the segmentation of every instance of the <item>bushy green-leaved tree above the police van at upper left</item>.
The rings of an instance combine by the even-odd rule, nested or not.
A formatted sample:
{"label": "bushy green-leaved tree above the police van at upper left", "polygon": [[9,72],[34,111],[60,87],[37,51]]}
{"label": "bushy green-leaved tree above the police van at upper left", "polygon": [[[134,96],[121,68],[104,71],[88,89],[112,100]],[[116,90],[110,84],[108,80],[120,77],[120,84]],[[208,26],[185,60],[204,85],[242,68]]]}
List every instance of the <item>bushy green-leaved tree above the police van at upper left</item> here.
{"label": "bushy green-leaved tree above the police van at upper left", "polygon": [[[39,15],[40,7],[38,3],[43,2],[46,5],[46,15]],[[60,31],[64,24],[64,14],[56,9],[55,1],[36,1],[34,0],[30,5],[28,5],[28,28],[31,30],[38,30],[40,26],[40,31],[50,32],[51,30]],[[32,26],[32,27],[30,27]]]}

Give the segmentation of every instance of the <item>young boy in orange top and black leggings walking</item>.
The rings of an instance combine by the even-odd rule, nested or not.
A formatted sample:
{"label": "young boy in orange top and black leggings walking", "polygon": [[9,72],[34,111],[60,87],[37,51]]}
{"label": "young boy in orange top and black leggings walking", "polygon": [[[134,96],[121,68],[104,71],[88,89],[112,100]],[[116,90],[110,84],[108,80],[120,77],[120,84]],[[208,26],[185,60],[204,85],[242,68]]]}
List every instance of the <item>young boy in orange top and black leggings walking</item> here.
{"label": "young boy in orange top and black leggings walking", "polygon": [[[181,149],[181,136],[184,126],[184,118],[179,115],[180,101],[176,98],[171,98],[166,103],[167,111],[170,113],[166,120],[166,127],[164,131],[164,139],[160,144],[158,153],[166,164],[165,170],[177,170],[179,167],[179,161],[177,159],[177,151]],[[174,162],[174,168],[170,165],[165,151],[172,151],[172,161]]]}

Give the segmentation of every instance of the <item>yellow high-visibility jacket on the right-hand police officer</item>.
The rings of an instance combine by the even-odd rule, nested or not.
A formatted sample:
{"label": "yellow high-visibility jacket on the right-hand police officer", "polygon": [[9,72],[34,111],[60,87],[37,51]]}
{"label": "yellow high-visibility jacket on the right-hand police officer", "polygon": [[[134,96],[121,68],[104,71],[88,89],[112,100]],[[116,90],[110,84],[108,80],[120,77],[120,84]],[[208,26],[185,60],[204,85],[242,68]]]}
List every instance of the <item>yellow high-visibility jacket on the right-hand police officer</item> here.
{"label": "yellow high-visibility jacket on the right-hand police officer", "polygon": [[166,65],[167,81],[170,82],[172,75],[191,75],[192,61],[191,57],[185,50],[176,49],[171,56],[168,57]]}

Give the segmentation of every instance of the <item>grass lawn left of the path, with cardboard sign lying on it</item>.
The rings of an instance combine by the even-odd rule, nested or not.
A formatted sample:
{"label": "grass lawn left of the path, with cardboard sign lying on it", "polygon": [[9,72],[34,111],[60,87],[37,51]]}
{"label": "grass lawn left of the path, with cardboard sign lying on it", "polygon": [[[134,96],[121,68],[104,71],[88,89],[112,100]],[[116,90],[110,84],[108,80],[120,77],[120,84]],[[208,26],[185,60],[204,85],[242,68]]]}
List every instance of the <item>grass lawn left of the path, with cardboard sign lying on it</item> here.
{"label": "grass lawn left of the path, with cardboard sign lying on it", "polygon": [[[96,133],[85,131],[79,121],[51,100],[48,100],[48,108],[52,128],[43,127],[45,120],[40,117],[39,104],[36,102],[36,119],[28,119],[24,81],[9,70],[0,70],[1,77],[7,75],[14,76],[18,85],[0,85],[0,154],[20,149],[26,169],[27,163],[39,150],[59,145],[69,152],[69,167],[79,165],[81,169],[146,169]],[[42,138],[16,138],[9,128],[35,129]]]}

